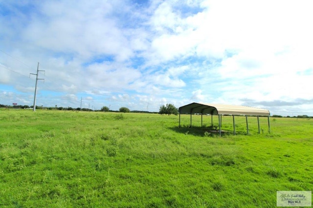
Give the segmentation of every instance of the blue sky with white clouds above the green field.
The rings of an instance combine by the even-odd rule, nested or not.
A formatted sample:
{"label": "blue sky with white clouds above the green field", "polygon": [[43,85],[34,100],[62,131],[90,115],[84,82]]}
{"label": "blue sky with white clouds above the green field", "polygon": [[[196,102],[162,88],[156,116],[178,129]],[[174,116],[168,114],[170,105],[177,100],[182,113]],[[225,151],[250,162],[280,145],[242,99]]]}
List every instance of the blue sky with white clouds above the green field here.
{"label": "blue sky with white clouds above the green field", "polygon": [[313,116],[312,0],[0,0],[0,104]]}

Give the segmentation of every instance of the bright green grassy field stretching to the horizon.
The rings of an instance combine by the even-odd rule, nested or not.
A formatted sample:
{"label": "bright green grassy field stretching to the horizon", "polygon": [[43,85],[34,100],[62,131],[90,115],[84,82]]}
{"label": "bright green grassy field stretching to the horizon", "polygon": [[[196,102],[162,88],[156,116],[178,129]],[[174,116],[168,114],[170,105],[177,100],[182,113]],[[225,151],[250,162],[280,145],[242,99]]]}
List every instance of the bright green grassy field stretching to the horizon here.
{"label": "bright green grassy field stretching to the horizon", "polygon": [[260,118],[258,134],[248,117],[246,135],[235,117],[219,137],[178,118],[0,109],[0,207],[272,208],[277,190],[313,190],[313,119],[270,118],[269,134]]}

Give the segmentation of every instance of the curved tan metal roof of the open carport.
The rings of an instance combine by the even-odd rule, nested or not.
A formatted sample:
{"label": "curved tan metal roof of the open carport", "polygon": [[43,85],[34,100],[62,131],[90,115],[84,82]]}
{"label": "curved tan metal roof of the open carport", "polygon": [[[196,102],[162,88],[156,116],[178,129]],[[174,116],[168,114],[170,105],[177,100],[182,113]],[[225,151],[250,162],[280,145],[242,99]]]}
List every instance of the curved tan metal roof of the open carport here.
{"label": "curved tan metal roof of the open carport", "polygon": [[201,114],[229,114],[229,115],[255,115],[255,116],[269,116],[270,113],[266,109],[248,107],[242,105],[228,105],[228,104],[205,104],[205,103],[191,103],[179,107],[179,113],[201,113]]}

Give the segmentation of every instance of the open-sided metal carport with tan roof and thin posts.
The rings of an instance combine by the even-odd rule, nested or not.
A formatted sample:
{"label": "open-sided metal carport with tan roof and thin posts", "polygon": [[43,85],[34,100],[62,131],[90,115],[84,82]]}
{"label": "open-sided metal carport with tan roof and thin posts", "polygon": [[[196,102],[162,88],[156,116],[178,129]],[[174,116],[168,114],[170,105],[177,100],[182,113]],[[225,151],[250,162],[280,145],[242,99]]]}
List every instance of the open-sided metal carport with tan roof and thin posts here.
{"label": "open-sided metal carport with tan roof and thin posts", "polygon": [[242,105],[229,105],[229,104],[205,104],[205,103],[191,103],[184,106],[179,107],[179,127],[180,127],[180,114],[190,114],[190,126],[192,125],[192,114],[199,113],[201,114],[201,126],[202,126],[202,115],[203,114],[211,114],[218,115],[219,117],[219,133],[221,135],[221,120],[222,115],[232,115],[233,116],[233,126],[234,126],[234,134],[235,131],[235,115],[245,115],[246,116],[246,129],[247,134],[248,130],[248,115],[257,116],[258,118],[258,129],[260,133],[260,123],[259,116],[267,116],[268,117],[268,132],[270,132],[269,126],[269,111],[266,109],[256,108],[256,107],[248,107]]}

